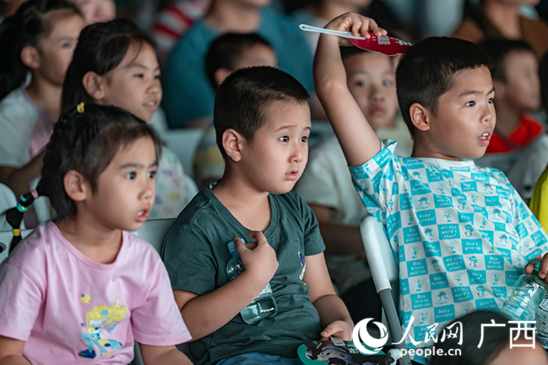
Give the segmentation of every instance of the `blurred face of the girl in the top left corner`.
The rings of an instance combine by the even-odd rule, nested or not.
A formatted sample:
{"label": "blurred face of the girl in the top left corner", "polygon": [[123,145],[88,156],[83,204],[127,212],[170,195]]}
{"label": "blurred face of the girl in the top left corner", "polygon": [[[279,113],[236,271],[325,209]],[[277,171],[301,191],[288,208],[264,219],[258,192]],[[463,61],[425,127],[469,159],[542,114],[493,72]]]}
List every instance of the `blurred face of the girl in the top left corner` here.
{"label": "blurred face of the girl in the top left corner", "polygon": [[38,41],[37,62],[31,68],[34,75],[62,87],[78,36],[85,26],[84,19],[71,11],[55,10],[48,14],[47,21],[53,29]]}

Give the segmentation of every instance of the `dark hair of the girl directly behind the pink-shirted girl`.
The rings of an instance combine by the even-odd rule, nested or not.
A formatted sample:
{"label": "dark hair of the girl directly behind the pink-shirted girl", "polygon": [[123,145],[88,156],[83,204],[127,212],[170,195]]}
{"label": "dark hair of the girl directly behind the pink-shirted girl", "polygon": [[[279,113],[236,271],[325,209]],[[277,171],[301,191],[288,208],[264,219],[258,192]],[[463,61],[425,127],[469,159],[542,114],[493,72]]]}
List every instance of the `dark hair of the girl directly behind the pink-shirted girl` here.
{"label": "dark hair of the girl directly behind the pink-shirted girl", "polygon": [[90,71],[105,75],[122,62],[131,45],[142,47],[144,43],[155,50],[151,38],[125,19],[85,27],[80,33],[73,60],[64,78],[62,110],[71,110],[82,101],[93,103],[94,99],[82,84],[84,75]]}

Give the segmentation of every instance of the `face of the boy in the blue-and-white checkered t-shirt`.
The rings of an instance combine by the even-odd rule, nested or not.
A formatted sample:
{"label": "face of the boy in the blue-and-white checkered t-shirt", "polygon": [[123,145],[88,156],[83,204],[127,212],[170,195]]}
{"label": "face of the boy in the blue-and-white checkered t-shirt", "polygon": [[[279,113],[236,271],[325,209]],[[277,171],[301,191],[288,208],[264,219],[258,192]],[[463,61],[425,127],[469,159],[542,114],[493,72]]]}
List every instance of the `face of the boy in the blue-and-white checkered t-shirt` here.
{"label": "face of the boy in the blue-and-white checkered t-shirt", "polygon": [[494,97],[486,66],[456,73],[453,87],[438,100],[437,112],[428,113],[429,157],[462,160],[484,155],[497,121]]}

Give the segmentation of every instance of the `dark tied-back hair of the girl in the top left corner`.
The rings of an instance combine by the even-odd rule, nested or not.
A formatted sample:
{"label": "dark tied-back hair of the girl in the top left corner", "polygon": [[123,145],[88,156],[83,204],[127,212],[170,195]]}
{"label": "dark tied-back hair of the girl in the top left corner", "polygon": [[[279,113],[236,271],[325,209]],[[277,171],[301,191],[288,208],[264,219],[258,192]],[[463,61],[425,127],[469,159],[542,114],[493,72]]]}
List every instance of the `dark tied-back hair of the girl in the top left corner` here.
{"label": "dark tied-back hair of the girl in the top left corner", "polygon": [[29,68],[21,61],[21,51],[38,47],[40,36],[51,33],[54,25],[48,14],[56,10],[82,15],[69,1],[29,0],[0,24],[0,100],[27,79]]}

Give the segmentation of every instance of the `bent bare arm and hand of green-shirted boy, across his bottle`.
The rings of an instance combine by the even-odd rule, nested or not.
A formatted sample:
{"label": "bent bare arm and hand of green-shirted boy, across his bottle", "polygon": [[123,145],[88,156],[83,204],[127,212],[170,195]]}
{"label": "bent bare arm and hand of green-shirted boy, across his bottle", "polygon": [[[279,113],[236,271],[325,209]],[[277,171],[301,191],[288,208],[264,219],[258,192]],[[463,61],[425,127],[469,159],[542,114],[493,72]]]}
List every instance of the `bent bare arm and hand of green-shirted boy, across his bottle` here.
{"label": "bent bare arm and hand of green-shirted boy, across his bottle", "polygon": [[249,237],[257,239],[255,247],[247,244],[251,249],[236,239],[236,249],[245,271],[234,280],[203,295],[173,290],[192,340],[208,336],[226,325],[260,294],[274,276],[278,267],[276,252],[261,232],[253,231]]}

